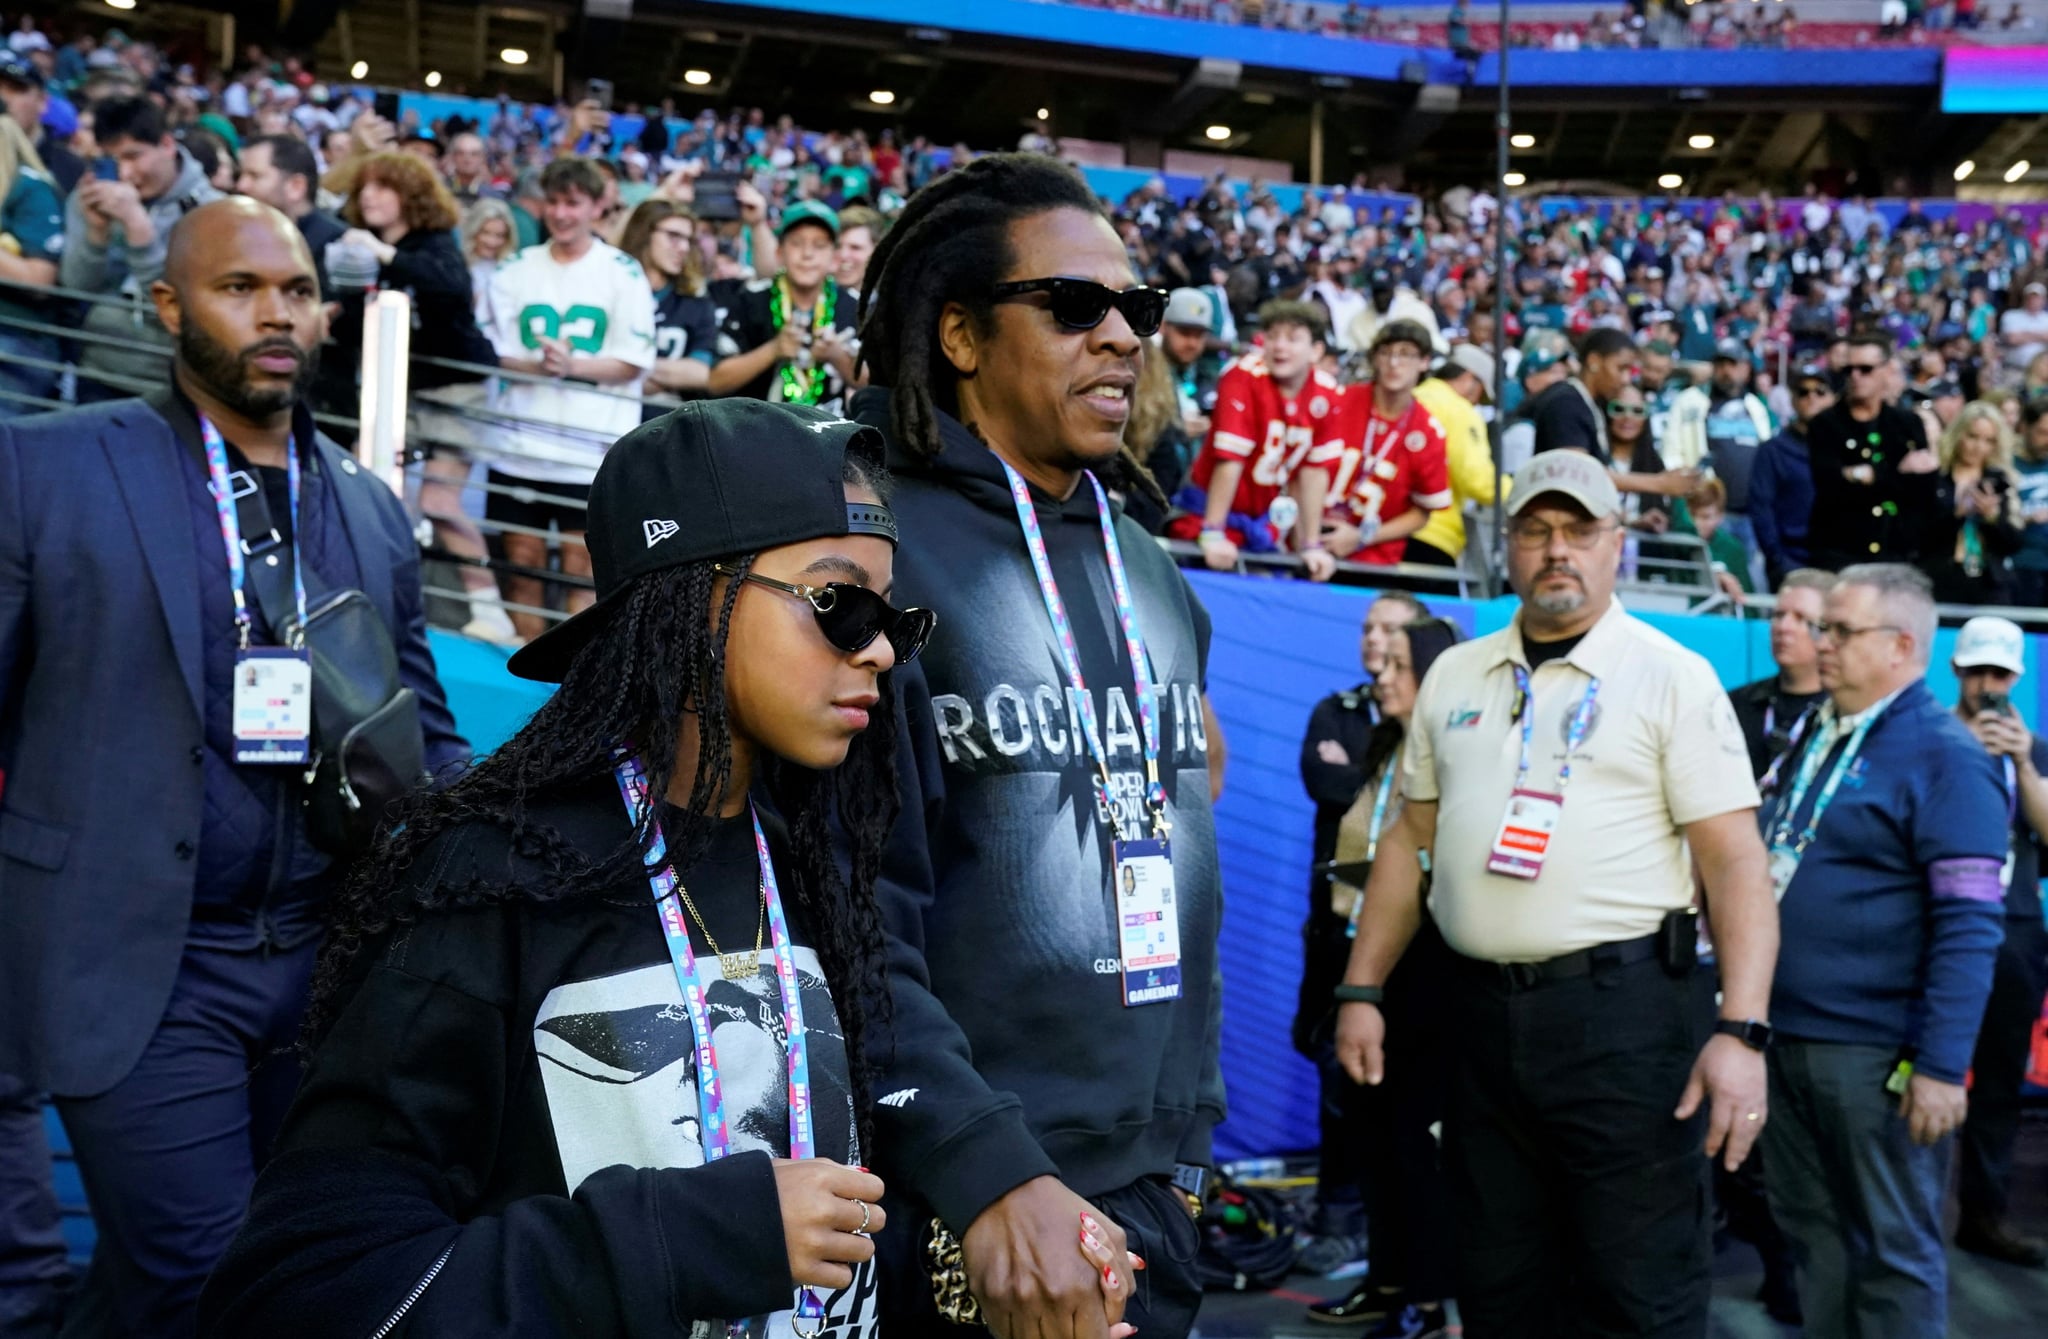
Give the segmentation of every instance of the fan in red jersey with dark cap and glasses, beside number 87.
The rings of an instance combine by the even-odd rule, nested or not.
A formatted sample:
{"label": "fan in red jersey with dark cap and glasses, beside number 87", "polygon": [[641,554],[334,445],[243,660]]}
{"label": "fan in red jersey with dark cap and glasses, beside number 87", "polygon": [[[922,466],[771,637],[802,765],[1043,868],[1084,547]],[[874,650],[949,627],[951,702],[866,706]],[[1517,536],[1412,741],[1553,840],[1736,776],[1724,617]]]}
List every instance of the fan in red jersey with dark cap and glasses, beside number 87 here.
{"label": "fan in red jersey with dark cap and glasses, beside number 87", "polygon": [[1343,455],[1329,467],[1323,547],[1354,563],[1399,563],[1407,536],[1450,506],[1444,426],[1415,399],[1430,332],[1386,321],[1372,336],[1372,381],[1343,393]]}

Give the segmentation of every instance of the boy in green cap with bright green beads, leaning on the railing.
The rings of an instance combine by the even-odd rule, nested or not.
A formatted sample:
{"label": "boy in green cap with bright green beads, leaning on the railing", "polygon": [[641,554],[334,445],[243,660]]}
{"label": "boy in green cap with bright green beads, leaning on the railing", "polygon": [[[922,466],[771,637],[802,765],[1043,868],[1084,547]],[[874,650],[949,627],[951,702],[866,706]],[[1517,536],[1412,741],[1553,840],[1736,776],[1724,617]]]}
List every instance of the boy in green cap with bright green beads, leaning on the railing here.
{"label": "boy in green cap with bright green beads, leaning on the railing", "polygon": [[748,285],[725,313],[713,395],[840,407],[856,381],[854,295],[834,278],[840,215],[817,201],[782,211],[782,270]]}

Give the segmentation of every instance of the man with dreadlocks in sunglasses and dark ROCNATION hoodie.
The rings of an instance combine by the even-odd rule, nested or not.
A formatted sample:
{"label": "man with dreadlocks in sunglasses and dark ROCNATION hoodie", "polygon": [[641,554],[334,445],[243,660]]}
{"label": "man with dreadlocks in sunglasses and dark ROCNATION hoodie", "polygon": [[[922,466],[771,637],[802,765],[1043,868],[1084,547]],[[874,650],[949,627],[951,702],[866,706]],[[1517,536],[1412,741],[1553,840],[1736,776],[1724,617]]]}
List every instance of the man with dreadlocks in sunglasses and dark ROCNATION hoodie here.
{"label": "man with dreadlocks in sunglasses and dark ROCNATION hoodie", "polygon": [[1108,500],[1157,491],[1122,432],[1165,299],[1036,154],[932,182],[868,262],[854,416],[891,438],[897,586],[948,624],[899,676],[881,884],[893,1333],[1102,1339],[1102,1280],[1065,1249],[1081,1214],[1149,1261],[1139,1333],[1186,1335],[1200,1306],[1223,1118],[1208,616]]}

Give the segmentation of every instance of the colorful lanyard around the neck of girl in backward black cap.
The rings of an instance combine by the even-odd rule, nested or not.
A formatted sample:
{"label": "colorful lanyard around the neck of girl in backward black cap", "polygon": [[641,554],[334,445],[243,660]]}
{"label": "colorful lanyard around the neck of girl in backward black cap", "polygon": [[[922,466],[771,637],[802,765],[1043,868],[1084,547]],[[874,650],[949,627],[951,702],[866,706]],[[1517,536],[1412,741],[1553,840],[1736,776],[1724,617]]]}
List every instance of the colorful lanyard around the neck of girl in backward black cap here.
{"label": "colorful lanyard around the neck of girl in backward black cap", "polygon": [[[618,796],[627,803],[627,819],[639,823],[641,815],[647,813],[647,772],[627,749],[616,749],[612,755],[618,760],[614,774]],[[774,878],[774,862],[768,860],[762,819],[758,813],[752,817],[754,854],[762,868],[762,897],[768,901],[774,979],[782,991],[782,1036],[788,1038],[788,1155],[801,1161],[817,1157],[817,1132],[811,1126],[811,1056],[803,1032],[803,999],[797,991],[797,956],[788,942],[788,919],[782,915],[782,891]],[[711,1042],[711,1007],[696,970],[696,950],[690,948],[690,925],[682,919],[682,899],[676,897],[676,887],[682,880],[676,878],[676,866],[668,860],[668,839],[657,821],[647,827],[647,866],[659,866],[647,876],[647,882],[653,889],[653,907],[662,915],[662,938],[668,940],[668,960],[676,968],[682,1007],[690,1016],[690,1032],[696,1034],[696,1106],[705,1126],[705,1161],[715,1163],[733,1151],[733,1134],[725,1122],[725,1089],[719,1087],[719,1052]],[[809,1288],[799,1288],[797,1314],[805,1321],[819,1321],[819,1329],[823,1329],[825,1304]],[[735,1321],[727,1333],[739,1335],[741,1323]]]}

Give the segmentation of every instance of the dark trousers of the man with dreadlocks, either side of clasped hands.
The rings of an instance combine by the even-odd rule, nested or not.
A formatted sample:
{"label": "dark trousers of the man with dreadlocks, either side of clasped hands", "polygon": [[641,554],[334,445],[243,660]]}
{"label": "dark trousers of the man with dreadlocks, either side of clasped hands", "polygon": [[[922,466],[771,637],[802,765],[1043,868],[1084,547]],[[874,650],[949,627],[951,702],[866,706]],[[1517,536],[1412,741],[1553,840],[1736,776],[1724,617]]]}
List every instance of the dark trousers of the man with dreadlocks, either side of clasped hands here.
{"label": "dark trousers of the man with dreadlocks, either side of clasped hands", "polygon": [[[1124,1228],[1128,1249],[1145,1261],[1124,1321],[1137,1325],[1139,1335],[1186,1339],[1202,1308],[1202,1278],[1194,1267],[1200,1235],[1180,1192],[1165,1179],[1143,1179],[1083,1198]],[[932,1304],[932,1282],[924,1271],[924,1233],[932,1212],[905,1196],[883,1200],[883,1206],[889,1210],[889,1226],[874,1239],[881,1333],[918,1339],[985,1337],[989,1331],[981,1327],[940,1321]],[[1073,1251],[1081,1251],[1079,1226]]]}

